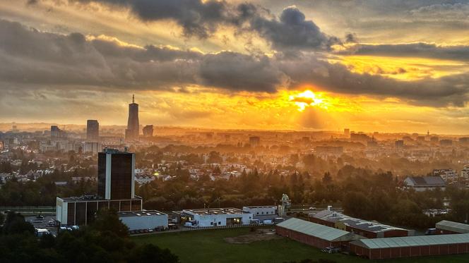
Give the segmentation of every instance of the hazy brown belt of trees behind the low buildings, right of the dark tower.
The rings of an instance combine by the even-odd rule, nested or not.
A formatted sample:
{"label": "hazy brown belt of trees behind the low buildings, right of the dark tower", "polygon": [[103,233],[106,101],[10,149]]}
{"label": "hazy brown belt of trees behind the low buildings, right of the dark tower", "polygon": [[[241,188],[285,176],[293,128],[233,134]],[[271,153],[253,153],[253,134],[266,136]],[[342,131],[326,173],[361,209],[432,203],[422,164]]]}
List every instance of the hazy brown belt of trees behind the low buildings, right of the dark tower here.
{"label": "hazy brown belt of trees behind the low buildings, right of the dark tower", "polygon": [[242,173],[229,180],[198,181],[183,169],[170,181],[155,180],[137,189],[143,197],[143,207],[170,211],[200,207],[243,207],[278,204],[283,193],[293,204],[341,204],[345,214],[409,228],[434,227],[440,218],[430,218],[425,209],[444,208],[451,204],[451,214],[445,217],[463,221],[469,212],[469,191],[449,186],[447,190],[415,192],[403,188],[402,181],[391,172],[343,166],[333,176],[322,177],[293,172],[287,175],[273,170]]}

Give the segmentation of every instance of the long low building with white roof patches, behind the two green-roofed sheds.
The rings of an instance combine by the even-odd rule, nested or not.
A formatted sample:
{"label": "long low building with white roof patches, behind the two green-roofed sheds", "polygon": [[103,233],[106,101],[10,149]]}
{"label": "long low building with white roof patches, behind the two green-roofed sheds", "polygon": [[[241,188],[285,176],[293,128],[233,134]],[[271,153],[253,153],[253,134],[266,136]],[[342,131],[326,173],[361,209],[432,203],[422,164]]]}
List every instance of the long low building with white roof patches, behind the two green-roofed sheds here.
{"label": "long low building with white roof patches, behind the two green-roofed sheds", "polygon": [[390,238],[396,236],[413,236],[414,231],[379,224],[375,221],[356,219],[345,214],[328,210],[310,214],[309,221],[343,231],[349,231],[365,238]]}

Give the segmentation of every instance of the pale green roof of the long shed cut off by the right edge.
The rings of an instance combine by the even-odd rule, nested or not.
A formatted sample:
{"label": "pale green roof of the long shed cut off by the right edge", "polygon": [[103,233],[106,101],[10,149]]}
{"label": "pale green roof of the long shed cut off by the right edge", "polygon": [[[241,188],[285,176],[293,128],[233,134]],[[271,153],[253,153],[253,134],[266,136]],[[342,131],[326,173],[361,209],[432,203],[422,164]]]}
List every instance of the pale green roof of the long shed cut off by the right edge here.
{"label": "pale green roof of the long shed cut off by the right edge", "polygon": [[360,247],[376,249],[388,247],[417,247],[422,245],[449,245],[469,243],[469,234],[404,236],[399,238],[372,238],[351,242]]}

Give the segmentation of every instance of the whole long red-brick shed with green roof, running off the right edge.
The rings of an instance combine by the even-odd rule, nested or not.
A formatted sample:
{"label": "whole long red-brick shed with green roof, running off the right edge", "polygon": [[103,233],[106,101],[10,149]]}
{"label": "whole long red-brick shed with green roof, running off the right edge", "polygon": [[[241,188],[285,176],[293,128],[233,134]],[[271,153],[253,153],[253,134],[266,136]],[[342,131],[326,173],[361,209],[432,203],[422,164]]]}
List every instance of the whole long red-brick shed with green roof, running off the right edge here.
{"label": "whole long red-brick shed with green roof, running off the right edge", "polygon": [[469,234],[361,239],[350,252],[369,259],[462,254],[469,252]]}

